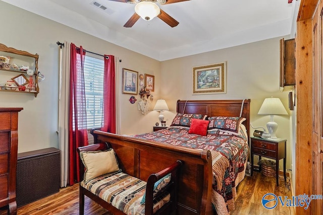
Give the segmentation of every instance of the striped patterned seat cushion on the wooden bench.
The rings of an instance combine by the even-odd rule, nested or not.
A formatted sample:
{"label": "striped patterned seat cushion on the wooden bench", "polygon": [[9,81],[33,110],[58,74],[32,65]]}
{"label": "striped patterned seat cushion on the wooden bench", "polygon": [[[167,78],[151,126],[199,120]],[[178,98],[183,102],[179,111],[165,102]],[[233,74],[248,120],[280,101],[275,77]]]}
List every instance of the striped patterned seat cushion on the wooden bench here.
{"label": "striped patterned seat cushion on the wooden bench", "polygon": [[[140,204],[146,191],[145,181],[117,171],[87,181],[83,180],[80,185],[126,214],[145,214],[145,205]],[[153,212],[169,200],[169,193],[155,199]]]}

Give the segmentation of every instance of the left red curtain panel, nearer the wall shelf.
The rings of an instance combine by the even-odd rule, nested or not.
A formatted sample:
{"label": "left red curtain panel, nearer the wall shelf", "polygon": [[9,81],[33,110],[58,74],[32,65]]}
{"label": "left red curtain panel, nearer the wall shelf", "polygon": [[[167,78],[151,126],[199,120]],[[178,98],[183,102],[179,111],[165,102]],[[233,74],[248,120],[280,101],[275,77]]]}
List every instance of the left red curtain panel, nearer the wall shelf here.
{"label": "left red curtain panel, nearer the wall shelf", "polygon": [[85,50],[71,43],[70,107],[69,107],[69,182],[80,181],[78,147],[88,145],[86,124],[86,99],[84,88]]}

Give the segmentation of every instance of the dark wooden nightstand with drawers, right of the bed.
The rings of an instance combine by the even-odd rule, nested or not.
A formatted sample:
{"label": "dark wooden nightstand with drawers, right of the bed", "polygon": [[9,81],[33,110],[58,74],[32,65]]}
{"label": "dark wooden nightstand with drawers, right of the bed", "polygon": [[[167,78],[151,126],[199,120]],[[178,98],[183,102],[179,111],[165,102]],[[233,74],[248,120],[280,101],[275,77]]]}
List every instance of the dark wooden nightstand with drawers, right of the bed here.
{"label": "dark wooden nightstand with drawers, right of the bed", "polygon": [[[284,180],[286,181],[286,139],[264,139],[250,137],[251,139],[251,176],[253,173],[253,156],[271,158],[276,161],[276,185],[278,183],[279,160],[284,159]],[[259,169],[260,170],[260,169]]]}

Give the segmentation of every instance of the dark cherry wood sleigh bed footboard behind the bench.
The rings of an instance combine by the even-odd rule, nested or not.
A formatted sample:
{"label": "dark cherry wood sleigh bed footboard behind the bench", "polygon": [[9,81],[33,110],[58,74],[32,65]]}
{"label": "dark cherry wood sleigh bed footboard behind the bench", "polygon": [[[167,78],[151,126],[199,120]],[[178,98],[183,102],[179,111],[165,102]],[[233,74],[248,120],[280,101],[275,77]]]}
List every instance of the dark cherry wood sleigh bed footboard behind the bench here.
{"label": "dark cherry wood sleigh bed footboard behind the bench", "polygon": [[177,214],[212,214],[212,159],[208,150],[174,147],[131,136],[92,130],[94,142],[111,145],[123,172],[147,181],[150,174],[183,161],[179,173]]}

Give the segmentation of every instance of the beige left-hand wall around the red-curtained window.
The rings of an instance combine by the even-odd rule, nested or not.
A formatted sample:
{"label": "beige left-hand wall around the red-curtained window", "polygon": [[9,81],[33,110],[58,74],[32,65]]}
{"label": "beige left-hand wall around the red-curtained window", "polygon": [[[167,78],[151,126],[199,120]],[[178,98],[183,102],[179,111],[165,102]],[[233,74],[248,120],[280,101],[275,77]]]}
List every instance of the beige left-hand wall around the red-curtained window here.
{"label": "beige left-hand wall around the red-curtained window", "polygon": [[[0,92],[1,107],[24,108],[19,114],[19,153],[48,147],[58,148],[59,49],[57,41],[73,42],[89,51],[112,54],[122,59],[122,62],[117,63],[117,99],[119,101],[118,111],[121,113],[118,117],[120,133],[134,134],[152,131],[149,116],[143,116],[138,111],[137,103],[129,102],[130,94],[120,93],[121,77],[122,68],[128,68],[142,74],[155,75],[155,84],[159,85],[159,61],[1,1],[0,19],[4,21],[1,28],[6,29],[0,34],[0,43],[33,54],[38,53],[39,71],[45,76],[45,80],[39,83],[40,93],[37,98],[33,94]],[[2,73],[6,72],[0,71],[0,74]],[[12,77],[16,75],[18,74],[14,73]],[[4,83],[2,81],[0,84]],[[154,94],[156,93],[158,89]],[[139,100],[139,95],[136,98]]]}

